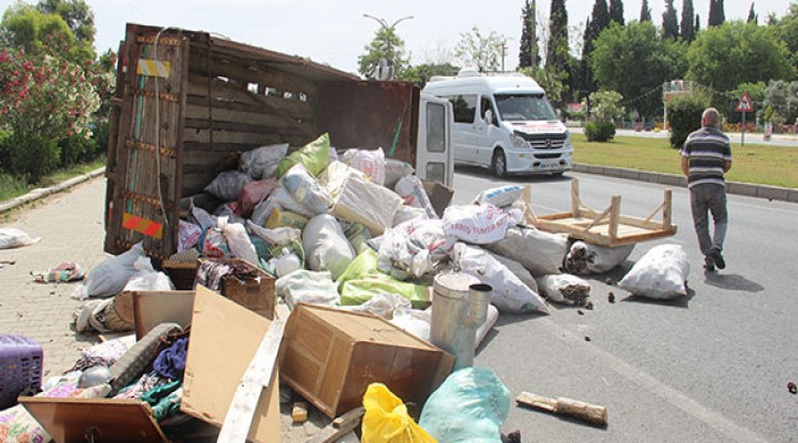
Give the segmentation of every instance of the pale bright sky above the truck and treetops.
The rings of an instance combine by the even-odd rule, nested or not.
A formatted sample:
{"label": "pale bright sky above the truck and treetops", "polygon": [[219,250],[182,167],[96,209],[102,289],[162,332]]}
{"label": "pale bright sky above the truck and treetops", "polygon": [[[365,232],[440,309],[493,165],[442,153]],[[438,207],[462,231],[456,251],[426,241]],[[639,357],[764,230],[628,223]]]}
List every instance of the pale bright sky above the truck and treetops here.
{"label": "pale bright sky above the truck and treetops", "polygon": [[[640,18],[643,0],[624,0],[627,21]],[[795,1],[795,0],[794,0]],[[34,3],[34,0],[28,0]],[[396,25],[411,64],[447,62],[460,35],[475,25],[483,35],[495,32],[507,39],[504,69],[514,70],[521,39],[524,0],[86,0],[94,11],[98,52],[114,51],[124,38],[126,22],[177,27],[291,55],[310,58],[347,72],[357,72],[362,55],[380,24],[364,14]],[[0,0],[6,10],[16,0]],[[584,29],[594,0],[565,0],[569,25]],[[784,16],[790,0],[759,0],[754,10],[759,23],[769,13]],[[549,20],[551,0],[538,0],[539,20]],[[665,0],[648,0],[654,23],[662,25]],[[726,20],[748,17],[750,0],[725,0]],[[682,17],[682,0],[674,0]],[[693,0],[706,28],[709,0]],[[546,27],[548,28],[548,27]],[[572,35],[573,38],[573,35]],[[581,40],[581,31],[579,32]],[[544,52],[544,50],[543,50]]]}

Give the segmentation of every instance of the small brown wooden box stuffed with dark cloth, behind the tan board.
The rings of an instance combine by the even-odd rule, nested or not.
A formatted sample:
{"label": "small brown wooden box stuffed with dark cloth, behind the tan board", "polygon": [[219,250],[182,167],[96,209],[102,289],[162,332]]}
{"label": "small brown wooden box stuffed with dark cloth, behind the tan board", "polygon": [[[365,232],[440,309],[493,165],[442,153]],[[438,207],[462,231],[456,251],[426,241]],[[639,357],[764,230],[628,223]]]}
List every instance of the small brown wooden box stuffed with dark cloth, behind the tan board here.
{"label": "small brown wooden box stuffed with dark cloth, behind the tan board", "polygon": [[275,309],[275,277],[249,261],[241,258],[200,259],[202,266],[206,261],[217,261],[229,265],[244,266],[254,271],[257,278],[241,280],[232,275],[222,278],[219,292],[236,303],[259,313],[267,319],[274,319]]}

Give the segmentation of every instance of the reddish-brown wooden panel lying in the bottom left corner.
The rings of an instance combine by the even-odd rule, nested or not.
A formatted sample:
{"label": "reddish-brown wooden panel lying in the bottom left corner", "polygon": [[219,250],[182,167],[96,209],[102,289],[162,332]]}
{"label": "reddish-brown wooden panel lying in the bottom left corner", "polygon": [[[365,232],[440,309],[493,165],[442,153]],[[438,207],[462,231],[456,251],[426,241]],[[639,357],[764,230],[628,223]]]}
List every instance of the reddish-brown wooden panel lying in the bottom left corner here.
{"label": "reddish-brown wooden panel lying in the bottom left corner", "polygon": [[167,441],[139,400],[23,396],[20,403],[60,443]]}

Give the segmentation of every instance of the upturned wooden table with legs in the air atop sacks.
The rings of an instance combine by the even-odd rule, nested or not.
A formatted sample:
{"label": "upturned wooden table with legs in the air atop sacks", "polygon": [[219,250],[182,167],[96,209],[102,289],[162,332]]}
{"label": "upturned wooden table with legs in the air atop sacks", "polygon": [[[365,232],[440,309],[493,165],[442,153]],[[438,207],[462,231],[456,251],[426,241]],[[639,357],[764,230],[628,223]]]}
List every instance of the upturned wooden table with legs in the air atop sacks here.
{"label": "upturned wooden table with legs in the air atop sacks", "polygon": [[[672,190],[665,189],[663,203],[646,218],[621,215],[621,196],[614,195],[603,212],[586,207],[579,194],[579,181],[571,181],[571,212],[536,216],[530,210],[526,222],[541,230],[567,234],[593,245],[621,246],[654,240],[676,234],[671,215]],[[662,212],[662,220],[654,216]]]}

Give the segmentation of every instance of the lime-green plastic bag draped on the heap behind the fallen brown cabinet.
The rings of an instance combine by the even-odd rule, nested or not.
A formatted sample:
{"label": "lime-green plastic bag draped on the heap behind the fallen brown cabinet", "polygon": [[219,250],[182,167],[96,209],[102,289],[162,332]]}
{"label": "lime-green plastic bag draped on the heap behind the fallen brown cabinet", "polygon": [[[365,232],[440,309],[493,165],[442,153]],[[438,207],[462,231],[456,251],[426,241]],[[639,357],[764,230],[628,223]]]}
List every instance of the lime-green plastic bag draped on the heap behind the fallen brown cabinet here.
{"label": "lime-green plastic bag draped on the heap behind the fallen brown cabinet", "polygon": [[385,274],[370,272],[344,282],[340,290],[341,305],[362,305],[380,292],[389,292],[410,300],[410,305],[416,309],[423,309],[429,305],[428,289],[426,286],[395,280]]}

